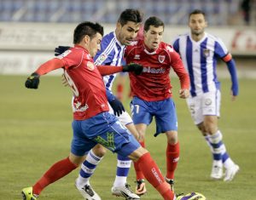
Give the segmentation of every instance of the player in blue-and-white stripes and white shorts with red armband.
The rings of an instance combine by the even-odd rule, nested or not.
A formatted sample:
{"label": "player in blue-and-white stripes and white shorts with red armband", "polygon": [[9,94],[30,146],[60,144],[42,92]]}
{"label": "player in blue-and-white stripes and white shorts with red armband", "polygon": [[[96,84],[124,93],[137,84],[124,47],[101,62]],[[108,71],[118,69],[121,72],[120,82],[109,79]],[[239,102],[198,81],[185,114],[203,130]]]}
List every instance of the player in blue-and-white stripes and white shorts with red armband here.
{"label": "player in blue-and-white stripes and white shorts with red armband", "polygon": [[189,111],[195,125],[200,129],[212,151],[211,177],[221,179],[223,166],[224,181],[232,180],[239,170],[222,140],[218,129],[220,109],[220,83],[217,77],[217,58],[224,60],[231,76],[231,99],[238,94],[236,64],[224,43],[205,32],[207,21],[201,10],[189,14],[190,33],[181,35],[173,43],[173,48],[181,55],[190,77],[190,97],[187,99]]}

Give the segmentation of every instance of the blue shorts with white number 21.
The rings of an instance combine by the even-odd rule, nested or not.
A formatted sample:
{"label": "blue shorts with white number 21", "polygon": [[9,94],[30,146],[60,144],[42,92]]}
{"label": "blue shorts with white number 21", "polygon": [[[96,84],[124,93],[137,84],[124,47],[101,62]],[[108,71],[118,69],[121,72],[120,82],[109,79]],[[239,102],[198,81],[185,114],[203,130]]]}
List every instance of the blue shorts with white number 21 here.
{"label": "blue shorts with white number 21", "polygon": [[131,116],[134,124],[145,123],[147,125],[154,117],[156,123],[154,136],[170,130],[177,131],[177,114],[172,98],[146,101],[134,97],[131,100]]}

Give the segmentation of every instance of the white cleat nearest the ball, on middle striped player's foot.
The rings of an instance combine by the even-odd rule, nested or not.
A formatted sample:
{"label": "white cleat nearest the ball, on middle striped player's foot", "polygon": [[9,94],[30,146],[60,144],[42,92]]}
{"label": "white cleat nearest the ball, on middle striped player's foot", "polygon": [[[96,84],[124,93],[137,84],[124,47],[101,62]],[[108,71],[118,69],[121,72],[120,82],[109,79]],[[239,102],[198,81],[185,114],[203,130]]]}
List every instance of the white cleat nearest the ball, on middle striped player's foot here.
{"label": "white cleat nearest the ball, on middle striped player's foot", "polygon": [[126,200],[137,200],[141,199],[137,194],[130,190],[130,186],[126,183],[125,186],[113,186],[112,194],[117,197],[125,197]]}

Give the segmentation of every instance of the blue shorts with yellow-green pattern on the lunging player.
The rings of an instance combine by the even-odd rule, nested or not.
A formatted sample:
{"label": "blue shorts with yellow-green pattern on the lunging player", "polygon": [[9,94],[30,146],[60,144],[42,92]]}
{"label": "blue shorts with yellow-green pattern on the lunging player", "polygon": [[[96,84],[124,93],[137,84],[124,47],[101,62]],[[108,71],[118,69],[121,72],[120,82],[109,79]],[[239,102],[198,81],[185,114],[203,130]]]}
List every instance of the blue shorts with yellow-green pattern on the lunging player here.
{"label": "blue shorts with yellow-green pattern on the lunging player", "polygon": [[101,144],[110,151],[127,157],[140,146],[117,117],[108,111],[86,120],[73,120],[72,127],[71,152],[76,156],[84,156],[93,146]]}

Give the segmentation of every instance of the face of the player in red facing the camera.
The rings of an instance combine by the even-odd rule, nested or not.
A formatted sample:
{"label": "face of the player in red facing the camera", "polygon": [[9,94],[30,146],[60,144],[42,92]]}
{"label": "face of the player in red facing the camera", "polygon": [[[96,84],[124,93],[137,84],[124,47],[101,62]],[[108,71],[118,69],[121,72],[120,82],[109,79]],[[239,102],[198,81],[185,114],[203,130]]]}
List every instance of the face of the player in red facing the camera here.
{"label": "face of the player in red facing the camera", "polygon": [[162,41],[164,33],[164,26],[154,27],[149,26],[148,31],[144,31],[144,43],[148,49],[158,49]]}

